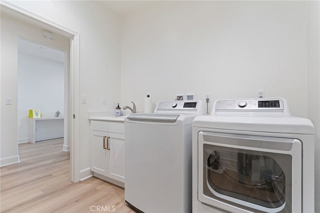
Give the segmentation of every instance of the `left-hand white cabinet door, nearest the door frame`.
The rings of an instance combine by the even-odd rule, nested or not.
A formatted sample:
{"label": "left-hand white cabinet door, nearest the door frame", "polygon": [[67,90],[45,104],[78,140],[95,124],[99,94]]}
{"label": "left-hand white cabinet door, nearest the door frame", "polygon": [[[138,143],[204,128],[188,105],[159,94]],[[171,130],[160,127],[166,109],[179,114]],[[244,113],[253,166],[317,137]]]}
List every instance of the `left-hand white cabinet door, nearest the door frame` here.
{"label": "left-hand white cabinet door, nearest the door frame", "polygon": [[91,170],[107,176],[107,132],[91,131]]}

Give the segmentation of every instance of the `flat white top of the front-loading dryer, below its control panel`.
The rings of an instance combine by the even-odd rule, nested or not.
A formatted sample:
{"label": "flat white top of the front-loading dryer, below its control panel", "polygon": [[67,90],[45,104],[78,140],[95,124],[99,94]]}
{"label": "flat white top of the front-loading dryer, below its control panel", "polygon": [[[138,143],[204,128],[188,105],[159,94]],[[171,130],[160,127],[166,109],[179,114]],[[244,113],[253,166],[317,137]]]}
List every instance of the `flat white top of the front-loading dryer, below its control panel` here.
{"label": "flat white top of the front-loading dryer, below its control panel", "polygon": [[309,119],[294,116],[197,116],[192,125],[239,131],[314,134],[314,126]]}

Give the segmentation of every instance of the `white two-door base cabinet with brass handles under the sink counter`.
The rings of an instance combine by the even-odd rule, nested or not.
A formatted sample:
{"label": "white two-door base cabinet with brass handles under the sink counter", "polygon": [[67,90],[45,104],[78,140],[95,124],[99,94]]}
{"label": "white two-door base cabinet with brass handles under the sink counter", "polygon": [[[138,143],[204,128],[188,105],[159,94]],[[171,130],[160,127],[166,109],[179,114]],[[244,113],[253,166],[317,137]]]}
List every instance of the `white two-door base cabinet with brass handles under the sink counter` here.
{"label": "white two-door base cabinet with brass handles under the sink counter", "polygon": [[124,183],[124,122],[91,120],[90,164],[94,176]]}

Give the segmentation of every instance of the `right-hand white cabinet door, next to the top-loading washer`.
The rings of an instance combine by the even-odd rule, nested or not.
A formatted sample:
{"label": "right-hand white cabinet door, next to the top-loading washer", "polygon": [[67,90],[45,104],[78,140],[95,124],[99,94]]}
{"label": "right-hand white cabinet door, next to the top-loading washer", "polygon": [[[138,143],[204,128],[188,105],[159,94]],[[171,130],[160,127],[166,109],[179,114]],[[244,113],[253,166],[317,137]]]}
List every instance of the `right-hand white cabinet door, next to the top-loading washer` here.
{"label": "right-hand white cabinet door, next to the top-loading washer", "polygon": [[124,182],[124,134],[108,132],[108,177]]}

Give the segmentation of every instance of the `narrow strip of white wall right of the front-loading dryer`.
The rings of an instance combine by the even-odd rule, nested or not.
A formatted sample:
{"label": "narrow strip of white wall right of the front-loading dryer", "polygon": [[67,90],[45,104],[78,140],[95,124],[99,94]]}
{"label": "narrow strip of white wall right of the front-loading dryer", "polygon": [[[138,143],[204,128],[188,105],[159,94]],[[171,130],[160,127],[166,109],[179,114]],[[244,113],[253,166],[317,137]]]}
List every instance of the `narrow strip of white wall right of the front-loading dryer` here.
{"label": "narrow strip of white wall right of the front-loading dryer", "polygon": [[307,1],[307,105],[315,127],[315,212],[320,212],[320,1]]}

